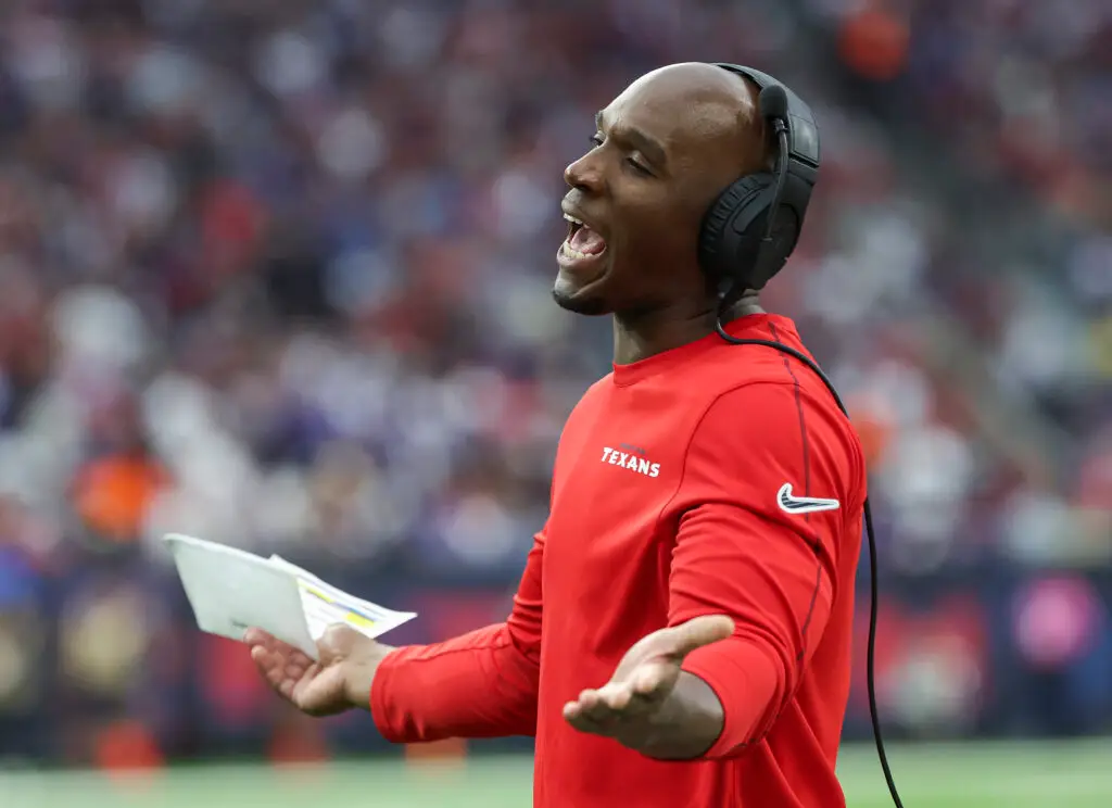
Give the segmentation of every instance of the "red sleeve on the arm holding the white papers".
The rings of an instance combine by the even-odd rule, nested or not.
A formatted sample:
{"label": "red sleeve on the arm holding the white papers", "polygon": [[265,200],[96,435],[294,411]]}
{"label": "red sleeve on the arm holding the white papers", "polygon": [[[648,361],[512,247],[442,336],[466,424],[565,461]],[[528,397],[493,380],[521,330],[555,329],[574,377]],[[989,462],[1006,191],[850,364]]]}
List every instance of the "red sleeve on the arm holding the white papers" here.
{"label": "red sleeve on the arm holding the white papers", "polygon": [[446,642],[399,648],[383,660],[370,711],[387,740],[536,734],[544,543],[542,530],[506,622]]}

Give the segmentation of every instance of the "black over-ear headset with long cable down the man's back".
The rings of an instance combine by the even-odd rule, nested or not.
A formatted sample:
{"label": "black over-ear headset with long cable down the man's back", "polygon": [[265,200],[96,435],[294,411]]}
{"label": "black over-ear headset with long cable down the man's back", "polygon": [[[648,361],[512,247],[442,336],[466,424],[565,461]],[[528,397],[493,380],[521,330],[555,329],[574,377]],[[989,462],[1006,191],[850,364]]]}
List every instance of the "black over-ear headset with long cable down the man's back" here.
{"label": "black over-ear headset with long cable down the man's back", "polygon": [[[698,239],[699,266],[718,292],[718,315],[715,329],[731,345],[759,345],[787,353],[813,370],[831,391],[838,409],[850,417],[833,382],[807,356],[791,346],[773,340],[738,339],[726,333],[722,319],[747,290],[764,288],[787,261],[803,227],[803,217],[811,201],[811,191],[818,177],[818,128],[811,108],[798,96],[772,76],[753,68],[727,62],[714,66],[754,82],[761,90],[761,117],[776,138],[776,166],[772,171],[747,174],[732,182],[711,205],[703,217]],[[903,808],[896,790],[888,757],[881,736],[876,709],[876,614],[878,586],[876,539],[873,535],[873,511],[865,499],[865,532],[868,536],[871,603],[868,610],[868,647],[866,651],[866,688],[868,712],[873,722],[876,752],[896,808]]]}

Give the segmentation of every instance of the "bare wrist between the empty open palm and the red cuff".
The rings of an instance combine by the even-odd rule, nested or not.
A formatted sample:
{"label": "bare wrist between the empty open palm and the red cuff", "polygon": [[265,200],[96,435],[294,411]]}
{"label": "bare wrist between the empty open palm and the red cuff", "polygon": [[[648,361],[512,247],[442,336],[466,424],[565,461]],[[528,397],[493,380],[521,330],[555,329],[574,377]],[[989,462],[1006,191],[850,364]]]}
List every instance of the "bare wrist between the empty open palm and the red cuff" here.
{"label": "bare wrist between the empty open palm and the red cuff", "polygon": [[724,721],[722,702],[711,686],[681,671],[676,687],[653,715],[649,731],[619,740],[646,757],[689,760],[714,746]]}

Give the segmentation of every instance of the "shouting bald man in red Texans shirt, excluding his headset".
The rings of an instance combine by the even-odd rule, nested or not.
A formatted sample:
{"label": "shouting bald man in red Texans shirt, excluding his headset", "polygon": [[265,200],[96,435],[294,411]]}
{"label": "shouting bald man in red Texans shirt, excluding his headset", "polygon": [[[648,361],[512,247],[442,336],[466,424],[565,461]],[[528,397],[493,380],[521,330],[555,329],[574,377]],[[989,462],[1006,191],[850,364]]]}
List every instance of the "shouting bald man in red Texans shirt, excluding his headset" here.
{"label": "shouting bald man in red Texans shirt, excluding his headset", "polygon": [[[614,372],[560,438],[549,518],[505,624],[391,649],[334,628],[321,661],[252,657],[312,715],[369,708],[399,742],[536,736],[535,805],[844,805],[862,451],[820,379],[714,332],[703,213],[768,162],[746,80],[642,77],[568,166],[554,296],[614,316]],[[726,330],[802,350],[742,299]]]}

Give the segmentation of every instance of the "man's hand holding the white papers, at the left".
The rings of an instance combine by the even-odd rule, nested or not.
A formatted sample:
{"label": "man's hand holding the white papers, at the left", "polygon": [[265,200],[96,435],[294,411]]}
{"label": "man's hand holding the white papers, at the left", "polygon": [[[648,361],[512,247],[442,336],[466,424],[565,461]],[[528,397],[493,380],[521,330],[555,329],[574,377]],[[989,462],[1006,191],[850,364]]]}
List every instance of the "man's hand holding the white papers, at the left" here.
{"label": "man's hand holding the white papers, at the left", "polygon": [[370,709],[375,671],[394,650],[347,626],[332,626],[317,640],[317,662],[257,628],[249,629],[244,641],[270,687],[310,716],[331,716],[353,707]]}

